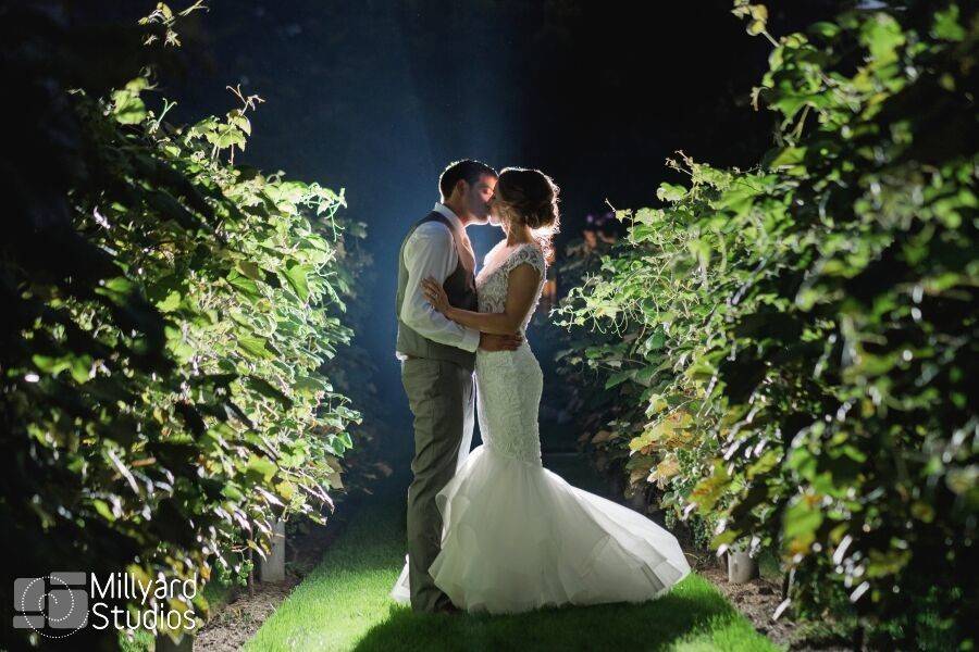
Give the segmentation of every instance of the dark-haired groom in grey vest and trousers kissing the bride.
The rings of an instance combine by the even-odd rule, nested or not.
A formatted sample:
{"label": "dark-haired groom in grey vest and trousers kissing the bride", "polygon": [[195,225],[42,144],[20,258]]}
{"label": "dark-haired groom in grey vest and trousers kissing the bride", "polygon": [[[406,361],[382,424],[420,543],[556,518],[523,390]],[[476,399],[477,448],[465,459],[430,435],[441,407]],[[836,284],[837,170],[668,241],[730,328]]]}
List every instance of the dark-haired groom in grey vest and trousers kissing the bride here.
{"label": "dark-haired groom in grey vest and trousers kissing the bride", "polygon": [[434,276],[453,305],[476,310],[475,254],[466,235],[485,224],[496,171],[479,161],[449,164],[438,178],[441,201],[408,230],[398,254],[397,356],[414,415],[414,478],[408,488],[408,584],[417,612],[453,611],[429,575],[442,547],[435,494],[469,454],[473,427],[475,350],[516,349],[518,337],[480,334],[435,311],[421,290]]}

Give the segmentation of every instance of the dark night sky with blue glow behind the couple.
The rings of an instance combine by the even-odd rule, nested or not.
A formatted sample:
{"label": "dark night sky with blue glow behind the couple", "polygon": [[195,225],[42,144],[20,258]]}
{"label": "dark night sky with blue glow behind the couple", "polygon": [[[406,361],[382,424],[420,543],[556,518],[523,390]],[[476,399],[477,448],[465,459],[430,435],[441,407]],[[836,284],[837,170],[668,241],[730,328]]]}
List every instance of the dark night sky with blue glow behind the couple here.
{"label": "dark night sky with blue glow behind the couple", "polygon": [[[135,21],[152,4],[76,11]],[[177,26],[183,70],[157,92],[178,102],[173,122],[188,123],[235,108],[225,86],[240,84],[265,103],[236,162],[346,189],[347,215],[368,224],[375,260],[364,288],[372,327],[358,338],[396,415],[406,415],[393,351],[397,251],[438,199],[449,161],[550,174],[561,187],[561,251],[606,202],[655,203],[659,183],[678,180],[664,165],[676,150],[748,166],[770,145],[771,117],[749,93],[771,46],[745,33],[730,0],[209,4]],[[769,2],[770,32],[804,28],[833,5]],[[501,235],[470,230],[480,258]]]}

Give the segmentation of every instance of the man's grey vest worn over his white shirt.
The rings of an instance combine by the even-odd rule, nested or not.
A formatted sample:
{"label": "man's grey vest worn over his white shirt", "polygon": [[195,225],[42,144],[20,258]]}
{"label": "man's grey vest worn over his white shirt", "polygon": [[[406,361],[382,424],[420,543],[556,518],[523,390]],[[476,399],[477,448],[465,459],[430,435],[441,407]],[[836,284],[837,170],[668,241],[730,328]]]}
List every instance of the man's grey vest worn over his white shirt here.
{"label": "man's grey vest worn over his white shirt", "polygon": [[[448,229],[454,233],[453,242],[454,247],[456,247],[456,252],[458,253],[459,238],[455,237],[456,234],[451,223],[445,215],[437,211],[432,211],[408,230],[408,235],[405,236],[405,240],[401,242],[401,249],[398,251],[398,294],[396,299],[398,317],[397,350],[411,358],[426,358],[429,360],[454,362],[467,369],[472,369],[475,366],[475,353],[470,353],[469,351],[464,351],[457,347],[442,344],[430,340],[426,337],[422,337],[417,330],[411,329],[401,321],[401,304],[405,302],[405,288],[408,286],[408,267],[405,265],[405,243],[408,241],[408,238],[411,237],[411,234],[414,233],[414,229],[426,222],[441,222],[448,227]],[[449,303],[454,306],[461,308],[462,310],[478,310],[475,278],[473,277],[472,272],[468,271],[462,265],[462,256],[459,255],[457,258],[459,262],[456,264],[455,271],[449,274],[448,278],[445,279],[445,283],[442,284],[442,287],[445,288],[445,293],[448,294]]]}

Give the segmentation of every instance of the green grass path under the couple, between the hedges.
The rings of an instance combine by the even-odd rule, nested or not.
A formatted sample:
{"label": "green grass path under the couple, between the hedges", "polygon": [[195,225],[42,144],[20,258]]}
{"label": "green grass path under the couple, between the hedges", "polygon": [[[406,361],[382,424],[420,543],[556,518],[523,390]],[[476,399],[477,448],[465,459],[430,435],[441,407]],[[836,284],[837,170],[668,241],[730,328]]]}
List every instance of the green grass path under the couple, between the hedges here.
{"label": "green grass path under the couple, between the hedges", "polygon": [[640,605],[513,616],[414,614],[387,597],[405,559],[404,491],[402,479],[389,478],[360,505],[322,563],[262,625],[247,651],[774,650],[695,575]]}

